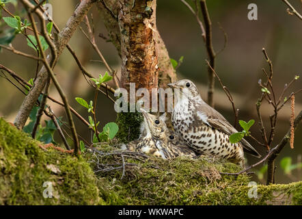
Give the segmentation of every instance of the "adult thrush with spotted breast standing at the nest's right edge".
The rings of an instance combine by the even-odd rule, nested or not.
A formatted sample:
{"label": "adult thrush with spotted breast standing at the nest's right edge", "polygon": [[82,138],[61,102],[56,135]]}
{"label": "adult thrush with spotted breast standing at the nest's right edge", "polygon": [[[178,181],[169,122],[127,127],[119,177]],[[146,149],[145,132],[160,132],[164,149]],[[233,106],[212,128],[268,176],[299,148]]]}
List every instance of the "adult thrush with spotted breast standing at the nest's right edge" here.
{"label": "adult thrush with spotted breast standing at the nest's right edge", "polygon": [[172,125],[176,133],[196,153],[212,155],[244,165],[243,150],[260,157],[246,141],[231,144],[229,137],[236,129],[219,112],[206,104],[195,84],[187,79],[170,83],[178,88],[176,105],[172,113]]}

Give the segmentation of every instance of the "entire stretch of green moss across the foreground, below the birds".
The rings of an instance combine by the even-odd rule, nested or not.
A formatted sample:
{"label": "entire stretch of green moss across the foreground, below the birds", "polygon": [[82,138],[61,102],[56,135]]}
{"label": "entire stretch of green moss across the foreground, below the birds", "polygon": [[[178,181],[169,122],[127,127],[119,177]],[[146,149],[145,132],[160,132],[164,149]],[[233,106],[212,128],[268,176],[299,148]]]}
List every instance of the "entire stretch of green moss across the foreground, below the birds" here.
{"label": "entire stretch of green moss across the foreground, below the birds", "polygon": [[[249,177],[221,176],[238,166],[208,157],[128,159],[137,166],[126,168],[121,180],[120,170],[95,175],[89,155],[78,159],[39,144],[0,118],[0,205],[302,204],[302,182],[258,185],[258,198],[249,198]],[[43,197],[45,181],[53,183],[53,198]]]}

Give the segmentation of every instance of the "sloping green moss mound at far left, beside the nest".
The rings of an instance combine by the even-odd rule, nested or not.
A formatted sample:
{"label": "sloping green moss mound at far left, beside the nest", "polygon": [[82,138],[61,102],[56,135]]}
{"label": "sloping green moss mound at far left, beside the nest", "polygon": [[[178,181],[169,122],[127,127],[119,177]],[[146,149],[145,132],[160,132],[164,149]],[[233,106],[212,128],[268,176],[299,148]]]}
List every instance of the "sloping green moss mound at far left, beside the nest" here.
{"label": "sloping green moss mound at far left, beside the nest", "polygon": [[[102,203],[94,172],[82,157],[44,151],[38,144],[0,118],[0,205]],[[43,197],[46,181],[52,182],[53,198]]]}

